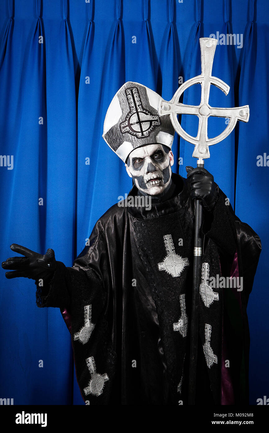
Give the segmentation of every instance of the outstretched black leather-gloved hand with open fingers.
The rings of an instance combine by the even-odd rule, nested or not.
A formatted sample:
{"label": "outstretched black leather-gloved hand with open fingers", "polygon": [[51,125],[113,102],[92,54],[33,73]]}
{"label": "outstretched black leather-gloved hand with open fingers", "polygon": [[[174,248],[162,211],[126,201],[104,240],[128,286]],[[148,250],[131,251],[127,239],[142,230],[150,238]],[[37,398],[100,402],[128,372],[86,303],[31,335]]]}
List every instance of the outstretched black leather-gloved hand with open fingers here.
{"label": "outstretched black leather-gloved hand with open fingers", "polygon": [[53,249],[49,248],[45,255],[17,244],[12,244],[10,249],[26,257],[9,257],[2,262],[3,269],[16,269],[13,272],[6,272],[6,278],[25,277],[37,280],[52,277],[56,268]]}

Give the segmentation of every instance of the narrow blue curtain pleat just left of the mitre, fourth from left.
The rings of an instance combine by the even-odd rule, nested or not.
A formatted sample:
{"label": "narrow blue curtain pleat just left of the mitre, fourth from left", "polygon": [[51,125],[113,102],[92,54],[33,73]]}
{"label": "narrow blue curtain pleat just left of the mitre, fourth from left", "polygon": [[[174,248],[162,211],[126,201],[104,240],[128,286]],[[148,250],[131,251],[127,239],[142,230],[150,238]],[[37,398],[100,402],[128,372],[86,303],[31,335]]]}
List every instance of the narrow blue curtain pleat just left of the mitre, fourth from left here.
{"label": "narrow blue curtain pleat just left of the mitre, fourth from left", "polygon": [[[95,24],[93,21],[93,0],[86,3],[87,30],[83,48],[78,97],[78,158],[77,158],[77,254],[85,246],[89,232],[89,215],[92,208],[92,190],[95,165],[100,140],[101,120],[99,116],[101,94],[97,96],[99,82],[98,68],[94,67],[97,60],[92,55]],[[101,92],[100,89],[98,89]],[[89,121],[90,120],[90,121]],[[89,158],[89,159],[87,159]],[[88,191],[85,200],[85,191]],[[84,242],[83,242],[84,241]]]}

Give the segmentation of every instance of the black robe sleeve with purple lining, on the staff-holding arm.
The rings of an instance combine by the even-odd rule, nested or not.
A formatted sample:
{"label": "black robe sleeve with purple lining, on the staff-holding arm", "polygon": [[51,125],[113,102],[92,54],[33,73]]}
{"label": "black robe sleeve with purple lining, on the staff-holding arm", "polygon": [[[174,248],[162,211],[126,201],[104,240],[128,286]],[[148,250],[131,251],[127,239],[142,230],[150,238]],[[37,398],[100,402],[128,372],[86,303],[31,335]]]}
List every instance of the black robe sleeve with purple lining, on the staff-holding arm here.
{"label": "black robe sleeve with purple lining, on the staff-holding arm", "polygon": [[[213,211],[204,211],[202,230],[218,247],[221,275],[240,282],[223,289],[221,404],[249,404],[247,303],[261,252],[260,238],[234,214],[220,189]],[[227,360],[230,368],[226,368]]]}

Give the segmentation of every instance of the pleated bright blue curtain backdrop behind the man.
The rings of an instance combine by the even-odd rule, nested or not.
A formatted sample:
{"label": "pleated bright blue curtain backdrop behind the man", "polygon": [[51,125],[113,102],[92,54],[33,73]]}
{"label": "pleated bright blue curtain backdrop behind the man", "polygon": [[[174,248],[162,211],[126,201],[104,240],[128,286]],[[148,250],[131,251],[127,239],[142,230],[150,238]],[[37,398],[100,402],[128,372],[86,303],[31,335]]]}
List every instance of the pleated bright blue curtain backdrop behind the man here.
{"label": "pleated bright blue curtain backdrop behind the man", "polygon": [[[51,247],[71,266],[98,217],[132,186],[101,137],[119,87],[138,81],[169,100],[200,74],[200,37],[237,35],[217,46],[212,71],[230,93],[212,88],[209,103],[249,104],[250,121],[210,148],[206,168],[263,245],[248,306],[251,404],[269,397],[268,30],[267,0],[0,1],[1,261],[14,242],[43,254]],[[197,85],[183,102],[199,96]],[[182,116],[182,125],[196,135],[195,116]],[[209,137],[225,127],[210,122]],[[176,137],[173,152],[173,171],[185,176],[196,164],[193,145]],[[0,308],[0,397],[83,404],[60,311],[38,309],[34,282],[8,281],[4,271]]]}

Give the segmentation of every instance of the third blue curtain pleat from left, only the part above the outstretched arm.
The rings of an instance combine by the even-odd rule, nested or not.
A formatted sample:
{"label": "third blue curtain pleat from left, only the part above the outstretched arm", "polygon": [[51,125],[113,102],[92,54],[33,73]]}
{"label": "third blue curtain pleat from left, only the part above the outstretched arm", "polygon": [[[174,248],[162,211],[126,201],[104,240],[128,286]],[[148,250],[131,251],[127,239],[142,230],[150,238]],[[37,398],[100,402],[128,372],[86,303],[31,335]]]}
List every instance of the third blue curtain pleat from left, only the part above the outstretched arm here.
{"label": "third blue curtain pleat from left, only the part above the outstretched arm", "polygon": [[[60,26],[50,27],[46,34],[46,39],[54,47],[54,52],[46,52],[46,87],[49,89],[46,99],[46,245],[54,242],[60,224],[55,254],[71,264],[76,200],[76,91],[72,38],[66,11],[67,0],[63,0]],[[54,187],[56,182],[57,191]]]}

